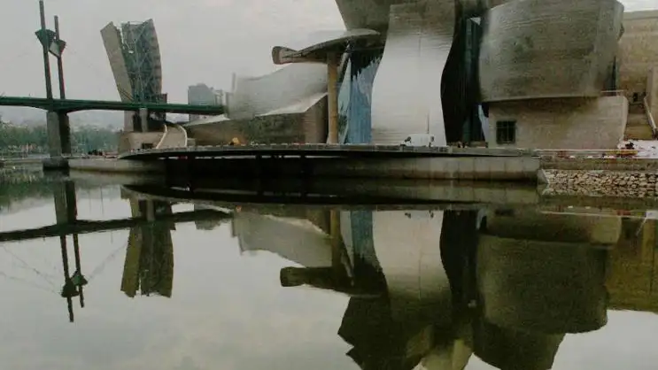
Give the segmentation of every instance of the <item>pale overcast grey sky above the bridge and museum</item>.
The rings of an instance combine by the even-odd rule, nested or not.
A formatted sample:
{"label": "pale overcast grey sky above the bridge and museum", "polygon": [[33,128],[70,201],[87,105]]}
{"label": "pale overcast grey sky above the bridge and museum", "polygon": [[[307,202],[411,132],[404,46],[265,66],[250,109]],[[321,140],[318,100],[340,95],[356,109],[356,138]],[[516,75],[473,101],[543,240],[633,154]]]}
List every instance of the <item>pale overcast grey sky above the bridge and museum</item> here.
{"label": "pale overcast grey sky above the bridge and museum", "polygon": [[[655,0],[624,0],[627,10]],[[43,62],[34,32],[37,0],[0,0],[0,94],[44,96]],[[275,70],[270,50],[302,33],[344,27],[334,0],[46,0],[49,27],[58,14],[68,42],[65,75],[72,98],[118,99],[100,36],[108,22],[152,18],[158,31],[164,91],[187,101],[204,82],[228,89],[231,73]]]}

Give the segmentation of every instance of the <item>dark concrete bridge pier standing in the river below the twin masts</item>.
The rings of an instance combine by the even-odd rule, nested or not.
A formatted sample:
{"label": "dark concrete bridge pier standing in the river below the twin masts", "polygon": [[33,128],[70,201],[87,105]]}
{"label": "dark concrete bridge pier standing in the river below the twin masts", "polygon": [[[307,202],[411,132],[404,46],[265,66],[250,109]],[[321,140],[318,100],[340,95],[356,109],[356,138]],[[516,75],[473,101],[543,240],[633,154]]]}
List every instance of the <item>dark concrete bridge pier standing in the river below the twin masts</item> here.
{"label": "dark concrete bridge pier standing in the river below the twin masts", "polygon": [[43,169],[67,168],[66,158],[71,155],[71,126],[68,114],[53,111],[46,113],[46,129],[50,158],[43,161]]}

